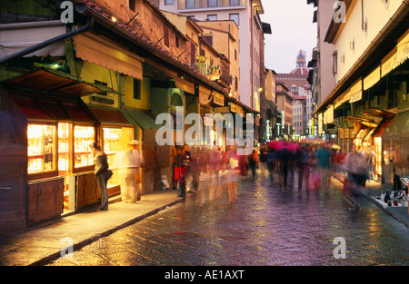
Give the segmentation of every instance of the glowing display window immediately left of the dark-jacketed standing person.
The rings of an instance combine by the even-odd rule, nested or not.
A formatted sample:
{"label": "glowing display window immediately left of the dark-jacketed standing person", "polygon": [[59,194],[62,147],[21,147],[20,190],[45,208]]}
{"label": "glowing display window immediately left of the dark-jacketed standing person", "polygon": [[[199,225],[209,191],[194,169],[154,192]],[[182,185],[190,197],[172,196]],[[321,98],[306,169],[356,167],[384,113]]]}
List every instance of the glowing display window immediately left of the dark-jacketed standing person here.
{"label": "glowing display window immediately left of the dark-jacketed standing person", "polygon": [[94,165],[93,152],[90,145],[95,142],[95,128],[93,126],[74,127],[74,168]]}

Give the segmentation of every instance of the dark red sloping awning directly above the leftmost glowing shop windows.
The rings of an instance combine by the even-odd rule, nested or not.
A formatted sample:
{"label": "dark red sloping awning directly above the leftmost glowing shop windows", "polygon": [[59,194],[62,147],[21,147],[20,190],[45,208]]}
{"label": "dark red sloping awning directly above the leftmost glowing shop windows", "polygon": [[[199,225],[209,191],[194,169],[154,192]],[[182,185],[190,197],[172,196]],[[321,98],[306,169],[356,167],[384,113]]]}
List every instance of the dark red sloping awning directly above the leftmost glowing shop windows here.
{"label": "dark red sloping awning directly above the leftmost glowing shop windows", "polygon": [[14,89],[7,91],[28,119],[95,122],[94,114],[81,98],[49,97]]}

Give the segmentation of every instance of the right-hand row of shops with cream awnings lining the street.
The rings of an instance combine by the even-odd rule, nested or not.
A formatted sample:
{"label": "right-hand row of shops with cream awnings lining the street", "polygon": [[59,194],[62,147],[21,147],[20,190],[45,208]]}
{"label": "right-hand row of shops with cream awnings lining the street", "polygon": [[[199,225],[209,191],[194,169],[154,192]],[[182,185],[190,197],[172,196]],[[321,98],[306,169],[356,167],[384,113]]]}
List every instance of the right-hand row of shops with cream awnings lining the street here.
{"label": "right-hand row of shops with cream awnings lining the street", "polygon": [[409,175],[408,40],[406,30],[388,54],[316,111],[320,135],[345,153],[353,145],[374,152],[375,178],[391,186],[396,176]]}

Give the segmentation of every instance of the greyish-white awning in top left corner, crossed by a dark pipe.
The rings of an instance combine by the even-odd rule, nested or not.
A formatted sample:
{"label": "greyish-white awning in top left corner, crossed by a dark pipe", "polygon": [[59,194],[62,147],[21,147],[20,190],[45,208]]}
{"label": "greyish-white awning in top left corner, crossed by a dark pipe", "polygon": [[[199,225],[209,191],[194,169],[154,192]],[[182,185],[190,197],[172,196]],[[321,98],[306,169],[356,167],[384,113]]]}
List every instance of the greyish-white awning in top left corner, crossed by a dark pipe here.
{"label": "greyish-white awning in top left corner, crossed by a dark pipe", "polygon": [[[0,24],[0,58],[21,52],[28,47],[65,33],[65,24],[60,20]],[[25,57],[47,55],[65,56],[65,42],[46,46]]]}

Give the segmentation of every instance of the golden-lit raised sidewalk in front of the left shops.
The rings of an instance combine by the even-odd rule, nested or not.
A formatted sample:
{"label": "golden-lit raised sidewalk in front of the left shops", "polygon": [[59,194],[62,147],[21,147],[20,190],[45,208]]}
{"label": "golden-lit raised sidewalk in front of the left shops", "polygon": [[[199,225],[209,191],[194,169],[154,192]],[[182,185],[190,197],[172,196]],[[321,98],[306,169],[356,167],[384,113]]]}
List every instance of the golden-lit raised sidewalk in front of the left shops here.
{"label": "golden-lit raised sidewalk in front of the left shops", "polygon": [[[145,194],[136,203],[115,202],[108,211],[83,211],[35,228],[0,236],[0,265],[42,265],[61,256],[72,244],[79,250],[86,244],[125,228],[138,220],[165,210],[183,198],[176,191],[156,191]],[[68,253],[68,250],[64,250]]]}

